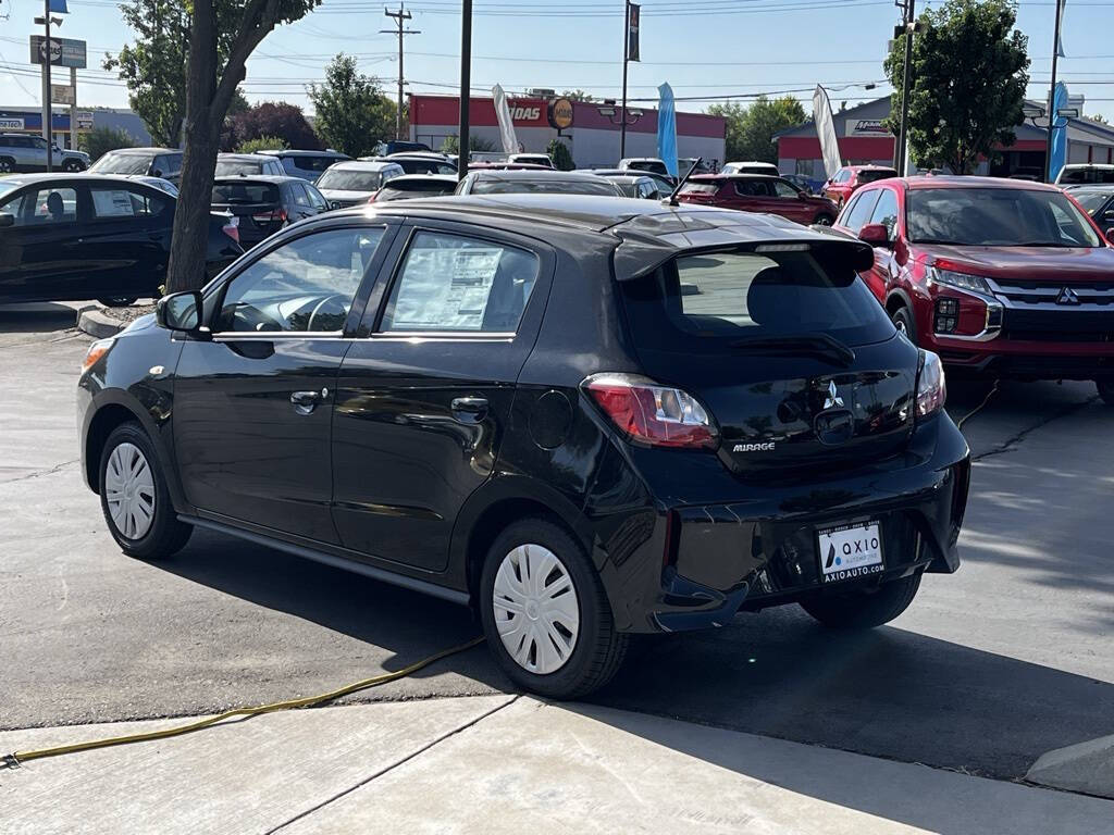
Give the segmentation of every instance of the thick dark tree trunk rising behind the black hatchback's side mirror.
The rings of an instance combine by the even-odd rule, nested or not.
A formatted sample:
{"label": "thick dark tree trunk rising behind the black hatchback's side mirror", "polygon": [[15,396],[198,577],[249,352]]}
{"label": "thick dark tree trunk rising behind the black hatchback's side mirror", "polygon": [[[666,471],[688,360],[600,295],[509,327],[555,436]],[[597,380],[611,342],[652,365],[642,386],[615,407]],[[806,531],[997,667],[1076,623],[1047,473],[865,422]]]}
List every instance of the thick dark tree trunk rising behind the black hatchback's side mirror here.
{"label": "thick dark tree trunk rising behind the black hatchback's side mirror", "polygon": [[[152,1],[152,0],[144,0]],[[170,237],[168,293],[205,282],[209,197],[228,107],[246,75],[247,59],[280,23],[305,17],[320,0],[188,0],[185,150]]]}

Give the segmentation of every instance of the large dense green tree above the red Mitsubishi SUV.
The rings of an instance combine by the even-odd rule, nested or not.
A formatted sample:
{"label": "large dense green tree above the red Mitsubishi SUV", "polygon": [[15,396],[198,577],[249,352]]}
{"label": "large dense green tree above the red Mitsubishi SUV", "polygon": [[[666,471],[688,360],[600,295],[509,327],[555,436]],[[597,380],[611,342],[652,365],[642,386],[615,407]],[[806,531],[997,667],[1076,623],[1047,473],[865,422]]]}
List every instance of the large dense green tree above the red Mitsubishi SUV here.
{"label": "large dense green tree above the red Mitsubishi SUV", "polygon": [[[909,150],[920,167],[947,166],[970,174],[995,146],[1012,145],[1024,121],[1029,82],[1028,38],[1014,28],[1010,0],[948,0],[920,16],[913,36],[909,91]],[[893,85],[890,117],[900,127],[905,39],[886,59]]]}

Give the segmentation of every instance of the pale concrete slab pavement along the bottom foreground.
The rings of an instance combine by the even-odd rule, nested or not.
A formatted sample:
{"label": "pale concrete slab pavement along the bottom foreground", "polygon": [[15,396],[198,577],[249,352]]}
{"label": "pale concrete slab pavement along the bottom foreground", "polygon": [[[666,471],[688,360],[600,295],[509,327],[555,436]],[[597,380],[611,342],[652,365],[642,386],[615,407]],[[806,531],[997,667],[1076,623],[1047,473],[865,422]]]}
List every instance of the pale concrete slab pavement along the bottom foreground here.
{"label": "pale concrete slab pavement along the bottom foreground", "polygon": [[[185,719],[0,734],[0,753]],[[609,708],[272,714],[0,770],[17,833],[1095,833],[1114,803]]]}

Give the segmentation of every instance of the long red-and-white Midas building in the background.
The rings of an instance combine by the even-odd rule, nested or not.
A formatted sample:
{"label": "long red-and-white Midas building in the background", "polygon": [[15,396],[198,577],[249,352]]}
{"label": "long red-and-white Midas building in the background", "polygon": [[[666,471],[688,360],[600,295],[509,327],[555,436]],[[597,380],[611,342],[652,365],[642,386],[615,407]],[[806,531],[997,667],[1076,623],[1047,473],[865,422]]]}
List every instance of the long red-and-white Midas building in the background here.
{"label": "long red-and-white Midas building in the background", "polygon": [[[560,138],[568,145],[577,168],[604,168],[618,163],[620,108],[617,105],[569,101],[548,95],[509,98],[507,104],[522,151],[545,154],[549,143]],[[557,119],[551,112],[555,105]],[[446,139],[457,136],[459,118],[460,100],[456,96],[410,96],[410,138],[413,141],[440,149]],[[472,136],[482,137],[495,148],[502,149],[494,99],[472,97],[468,118]],[[657,110],[628,106],[627,122],[626,156],[658,156]],[[704,157],[722,164],[726,130],[726,121],[721,116],[677,112],[677,156]]]}

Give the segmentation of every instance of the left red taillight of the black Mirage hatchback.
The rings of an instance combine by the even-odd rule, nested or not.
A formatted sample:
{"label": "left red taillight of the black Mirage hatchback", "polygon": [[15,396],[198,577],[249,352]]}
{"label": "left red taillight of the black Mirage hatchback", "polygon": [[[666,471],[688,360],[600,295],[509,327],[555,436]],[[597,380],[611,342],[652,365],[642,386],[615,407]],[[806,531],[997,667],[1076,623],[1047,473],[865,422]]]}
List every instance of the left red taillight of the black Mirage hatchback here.
{"label": "left red taillight of the black Mirage hatchback", "polygon": [[583,383],[618,430],[653,446],[715,446],[719,431],[691,394],[633,374],[594,374]]}

